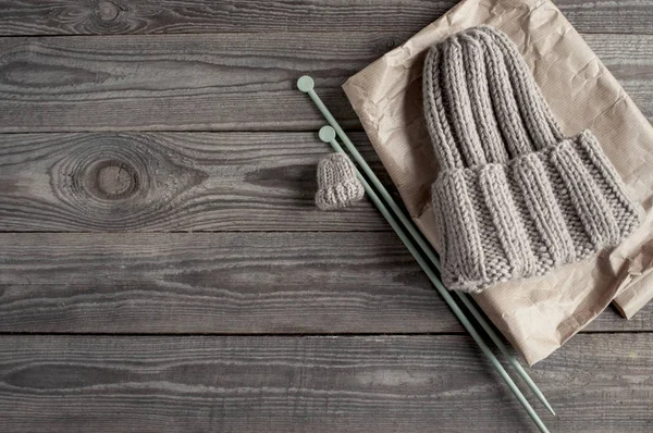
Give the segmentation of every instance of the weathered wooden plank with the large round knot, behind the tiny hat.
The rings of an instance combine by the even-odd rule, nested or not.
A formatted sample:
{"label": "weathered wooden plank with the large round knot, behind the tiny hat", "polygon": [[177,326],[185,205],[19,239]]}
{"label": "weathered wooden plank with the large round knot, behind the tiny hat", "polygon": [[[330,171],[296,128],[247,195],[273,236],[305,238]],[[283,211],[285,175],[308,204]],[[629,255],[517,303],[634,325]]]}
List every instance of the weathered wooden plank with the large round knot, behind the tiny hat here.
{"label": "weathered wooden plank with the large round knot, behind the tiny hat", "polygon": [[[364,157],[384,174],[365,134]],[[0,140],[0,231],[369,231],[367,199],[316,208],[317,133],[10,134]]]}

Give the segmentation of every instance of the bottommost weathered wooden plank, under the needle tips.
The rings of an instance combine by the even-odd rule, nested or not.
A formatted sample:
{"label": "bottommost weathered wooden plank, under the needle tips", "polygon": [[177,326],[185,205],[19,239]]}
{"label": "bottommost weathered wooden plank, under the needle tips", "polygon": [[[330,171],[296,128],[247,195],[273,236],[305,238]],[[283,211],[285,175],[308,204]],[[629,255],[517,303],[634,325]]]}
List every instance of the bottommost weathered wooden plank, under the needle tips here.
{"label": "bottommost weathered wooden plank, under the needle tips", "polygon": [[[577,336],[530,369],[558,416],[537,409],[553,432],[650,432],[652,360],[653,334]],[[14,433],[537,432],[470,338],[452,335],[4,335],[0,425]]]}

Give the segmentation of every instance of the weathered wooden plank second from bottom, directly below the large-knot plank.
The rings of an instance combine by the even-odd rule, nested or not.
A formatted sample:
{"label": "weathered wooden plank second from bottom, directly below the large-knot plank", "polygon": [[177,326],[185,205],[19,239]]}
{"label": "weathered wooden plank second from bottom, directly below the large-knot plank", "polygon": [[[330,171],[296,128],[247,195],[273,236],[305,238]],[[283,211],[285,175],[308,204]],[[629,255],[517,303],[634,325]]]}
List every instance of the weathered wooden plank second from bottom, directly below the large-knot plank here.
{"label": "weathered wooden plank second from bottom, directly below the large-knot plank", "polygon": [[[0,332],[465,331],[394,233],[0,234]],[[608,309],[589,331],[653,331]]]}

